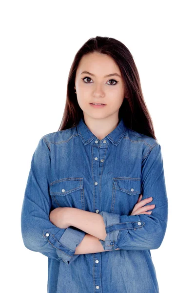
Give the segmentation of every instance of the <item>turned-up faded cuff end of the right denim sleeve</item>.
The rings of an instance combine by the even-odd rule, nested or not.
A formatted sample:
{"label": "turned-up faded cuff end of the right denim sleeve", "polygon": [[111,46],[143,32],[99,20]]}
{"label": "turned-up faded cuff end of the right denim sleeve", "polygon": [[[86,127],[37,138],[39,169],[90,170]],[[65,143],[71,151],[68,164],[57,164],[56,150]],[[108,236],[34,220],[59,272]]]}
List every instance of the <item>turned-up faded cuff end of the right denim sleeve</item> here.
{"label": "turned-up faded cuff end of the right denim sleeve", "polygon": [[120,215],[115,213],[109,213],[107,211],[101,211],[99,214],[103,217],[107,233],[105,241],[101,239],[99,241],[101,242],[104,250],[116,250],[118,248],[117,238],[119,230],[109,232],[109,228],[111,228],[113,225],[120,223]]}

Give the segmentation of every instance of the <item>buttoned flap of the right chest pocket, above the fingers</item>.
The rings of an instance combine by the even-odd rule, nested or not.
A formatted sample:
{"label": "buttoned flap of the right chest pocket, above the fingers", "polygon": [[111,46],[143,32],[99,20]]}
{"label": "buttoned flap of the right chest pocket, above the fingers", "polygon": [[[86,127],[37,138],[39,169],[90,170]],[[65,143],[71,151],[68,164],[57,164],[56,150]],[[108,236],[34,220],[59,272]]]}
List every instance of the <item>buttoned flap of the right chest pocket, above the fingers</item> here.
{"label": "buttoned flap of the right chest pocket, above the fingers", "polygon": [[113,183],[117,190],[128,193],[130,195],[136,195],[140,193],[140,189],[141,189],[140,178],[117,177],[117,178],[113,178]]}

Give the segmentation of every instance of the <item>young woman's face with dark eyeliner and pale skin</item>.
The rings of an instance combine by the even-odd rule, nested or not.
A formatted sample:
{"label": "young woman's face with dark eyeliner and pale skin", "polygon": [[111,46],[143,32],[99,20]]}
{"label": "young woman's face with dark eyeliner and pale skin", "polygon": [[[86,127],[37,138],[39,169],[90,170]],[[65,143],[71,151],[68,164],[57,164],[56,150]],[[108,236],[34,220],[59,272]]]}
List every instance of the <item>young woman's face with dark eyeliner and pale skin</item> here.
{"label": "young woman's face with dark eyeliner and pale skin", "polygon": [[[103,119],[114,115],[112,118],[118,119],[124,99],[124,83],[119,67],[110,56],[97,52],[83,56],[76,72],[75,89],[84,118],[87,115],[93,119]],[[96,108],[90,103],[105,106]]]}

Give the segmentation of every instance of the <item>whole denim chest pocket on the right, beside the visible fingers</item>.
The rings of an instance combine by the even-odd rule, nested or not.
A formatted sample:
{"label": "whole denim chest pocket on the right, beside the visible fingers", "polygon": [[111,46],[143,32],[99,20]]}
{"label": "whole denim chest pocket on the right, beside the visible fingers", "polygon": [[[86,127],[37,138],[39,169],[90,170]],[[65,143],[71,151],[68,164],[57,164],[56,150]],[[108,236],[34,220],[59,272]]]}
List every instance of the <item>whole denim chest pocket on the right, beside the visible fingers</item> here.
{"label": "whole denim chest pocket on the right, beside the visible fingers", "polygon": [[112,204],[111,212],[120,215],[130,215],[140,194],[141,180],[132,177],[112,178]]}

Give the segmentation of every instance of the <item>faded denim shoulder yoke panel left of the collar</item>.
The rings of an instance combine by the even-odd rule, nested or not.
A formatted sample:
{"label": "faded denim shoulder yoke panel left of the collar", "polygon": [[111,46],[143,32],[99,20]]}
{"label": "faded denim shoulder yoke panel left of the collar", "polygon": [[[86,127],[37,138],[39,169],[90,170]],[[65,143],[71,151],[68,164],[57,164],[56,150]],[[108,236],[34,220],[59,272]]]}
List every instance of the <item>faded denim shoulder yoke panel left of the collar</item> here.
{"label": "faded denim shoulder yoke panel left of the collar", "polygon": [[41,137],[41,140],[43,140],[50,149],[51,144],[68,142],[74,136],[78,136],[76,126],[65,130],[47,133]]}

